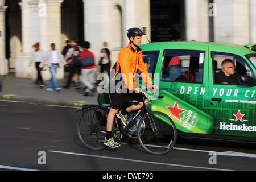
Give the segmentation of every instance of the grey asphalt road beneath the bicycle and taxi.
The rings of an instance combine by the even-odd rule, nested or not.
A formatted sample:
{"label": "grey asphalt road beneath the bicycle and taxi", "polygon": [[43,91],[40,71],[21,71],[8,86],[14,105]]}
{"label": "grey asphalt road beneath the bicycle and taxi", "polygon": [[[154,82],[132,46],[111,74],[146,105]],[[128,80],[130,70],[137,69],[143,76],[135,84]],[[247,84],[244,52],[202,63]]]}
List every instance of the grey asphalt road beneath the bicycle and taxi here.
{"label": "grey asphalt road beneath the bicycle and taxi", "polygon": [[76,110],[0,101],[0,170],[256,170],[253,142],[183,137],[163,156],[125,143],[118,150],[89,150],[77,138]]}

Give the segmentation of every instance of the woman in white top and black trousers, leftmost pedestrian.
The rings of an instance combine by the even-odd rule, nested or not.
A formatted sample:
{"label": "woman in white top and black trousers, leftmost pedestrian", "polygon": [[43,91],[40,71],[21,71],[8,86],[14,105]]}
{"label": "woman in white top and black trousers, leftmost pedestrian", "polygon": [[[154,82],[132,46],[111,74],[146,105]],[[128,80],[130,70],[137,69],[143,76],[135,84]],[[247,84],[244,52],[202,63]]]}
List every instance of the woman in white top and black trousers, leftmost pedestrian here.
{"label": "woman in white top and black trousers, leftmost pedestrian", "polygon": [[[32,53],[30,65],[32,63],[35,63],[36,70],[38,71],[38,77],[36,78],[35,86],[39,86],[39,88],[42,89],[42,88],[44,88],[45,85],[44,85],[44,82],[43,82],[43,78],[41,76],[39,65],[43,61],[43,58],[44,58],[43,57],[43,51],[40,50],[40,43],[39,42],[34,44],[33,47],[35,48],[35,52]],[[39,82],[40,82],[40,85],[39,85]]]}

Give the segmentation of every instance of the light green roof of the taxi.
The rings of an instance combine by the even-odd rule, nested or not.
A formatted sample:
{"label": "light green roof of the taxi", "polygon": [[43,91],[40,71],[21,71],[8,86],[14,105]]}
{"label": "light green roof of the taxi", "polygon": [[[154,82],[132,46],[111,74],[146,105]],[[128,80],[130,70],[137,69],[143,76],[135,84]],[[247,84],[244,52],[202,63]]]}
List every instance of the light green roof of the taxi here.
{"label": "light green roof of the taxi", "polygon": [[[154,48],[160,49],[162,48],[162,46],[168,46],[168,45],[172,45],[174,46],[175,44],[177,45],[184,45],[191,47],[191,46],[208,46],[208,47],[214,47],[214,48],[218,48],[221,49],[221,52],[226,52],[226,53],[235,53],[237,51],[240,51],[243,55],[247,55],[250,53],[255,53],[255,51],[252,51],[250,48],[239,45],[239,44],[230,44],[230,43],[216,43],[216,42],[197,42],[197,41],[171,41],[171,42],[154,42],[154,43],[147,43],[147,44],[143,44],[141,46],[141,48],[143,49],[144,46],[148,47],[148,46],[152,46]],[[145,47],[145,48],[146,48]],[[152,48],[151,47],[151,48]]]}

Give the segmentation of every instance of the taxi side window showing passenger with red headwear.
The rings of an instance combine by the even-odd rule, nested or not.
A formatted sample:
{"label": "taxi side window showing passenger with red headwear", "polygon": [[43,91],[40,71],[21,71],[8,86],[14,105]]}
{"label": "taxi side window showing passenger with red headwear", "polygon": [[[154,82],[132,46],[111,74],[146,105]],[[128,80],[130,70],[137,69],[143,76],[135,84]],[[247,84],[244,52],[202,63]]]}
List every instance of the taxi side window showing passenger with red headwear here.
{"label": "taxi side window showing passenger with red headwear", "polygon": [[205,51],[165,50],[161,81],[203,82]]}

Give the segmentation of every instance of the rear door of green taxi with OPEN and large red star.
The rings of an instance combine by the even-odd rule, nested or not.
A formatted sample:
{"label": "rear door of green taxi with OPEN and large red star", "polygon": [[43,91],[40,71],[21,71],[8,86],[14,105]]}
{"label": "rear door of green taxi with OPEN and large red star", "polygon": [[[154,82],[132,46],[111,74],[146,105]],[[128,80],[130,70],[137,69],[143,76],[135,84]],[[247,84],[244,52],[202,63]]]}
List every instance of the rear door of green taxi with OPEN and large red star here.
{"label": "rear door of green taxi with OPEN and large red star", "polygon": [[169,115],[179,131],[208,133],[208,114],[204,97],[208,87],[207,46],[171,44],[163,47],[156,72],[159,73],[160,100],[154,100],[151,110]]}

